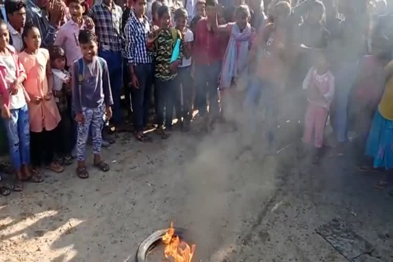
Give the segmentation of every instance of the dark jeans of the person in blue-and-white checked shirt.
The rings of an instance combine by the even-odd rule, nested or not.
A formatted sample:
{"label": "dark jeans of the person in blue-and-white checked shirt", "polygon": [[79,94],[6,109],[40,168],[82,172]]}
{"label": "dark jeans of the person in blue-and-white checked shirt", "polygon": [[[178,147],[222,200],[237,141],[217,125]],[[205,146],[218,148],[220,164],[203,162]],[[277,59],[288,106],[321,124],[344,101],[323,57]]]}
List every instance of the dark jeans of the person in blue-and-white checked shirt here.
{"label": "dark jeans of the person in blue-and-white checked shirt", "polygon": [[139,89],[132,88],[131,100],[133,104],[135,130],[140,132],[143,131],[148,120],[154,66],[152,63],[137,64],[134,69],[138,78]]}

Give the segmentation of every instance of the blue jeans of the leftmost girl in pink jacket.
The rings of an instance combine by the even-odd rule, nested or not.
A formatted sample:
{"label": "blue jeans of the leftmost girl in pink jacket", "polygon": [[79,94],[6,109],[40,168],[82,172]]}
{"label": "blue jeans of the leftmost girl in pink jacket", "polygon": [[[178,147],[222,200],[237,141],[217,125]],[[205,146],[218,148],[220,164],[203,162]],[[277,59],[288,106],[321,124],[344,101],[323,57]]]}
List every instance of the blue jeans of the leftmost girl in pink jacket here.
{"label": "blue jeans of the leftmost girl in pink jacket", "polygon": [[11,118],[4,119],[12,166],[30,164],[30,125],[27,104],[19,109],[11,109]]}

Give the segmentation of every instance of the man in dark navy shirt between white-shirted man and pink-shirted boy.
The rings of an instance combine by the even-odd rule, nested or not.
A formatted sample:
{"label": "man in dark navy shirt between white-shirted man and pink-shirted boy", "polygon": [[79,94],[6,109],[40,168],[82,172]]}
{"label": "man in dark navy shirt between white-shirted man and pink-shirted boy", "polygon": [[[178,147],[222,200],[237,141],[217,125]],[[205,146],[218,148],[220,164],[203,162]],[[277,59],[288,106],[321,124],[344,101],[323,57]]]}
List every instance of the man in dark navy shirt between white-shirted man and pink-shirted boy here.
{"label": "man in dark navy shirt between white-shirted man and pink-shirted boy", "polygon": [[[48,12],[46,7],[48,6]],[[64,14],[60,0],[27,0],[26,20],[36,26],[41,34],[41,47],[48,48],[56,38]],[[48,17],[50,17],[48,19]]]}

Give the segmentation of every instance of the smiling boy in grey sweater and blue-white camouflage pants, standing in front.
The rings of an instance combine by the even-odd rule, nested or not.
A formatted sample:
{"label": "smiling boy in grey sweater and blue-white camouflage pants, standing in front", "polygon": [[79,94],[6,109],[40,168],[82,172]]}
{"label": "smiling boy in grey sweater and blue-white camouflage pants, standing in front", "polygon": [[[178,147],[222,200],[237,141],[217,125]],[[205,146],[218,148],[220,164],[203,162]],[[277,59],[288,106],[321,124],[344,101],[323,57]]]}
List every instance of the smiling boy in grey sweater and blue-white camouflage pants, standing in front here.
{"label": "smiling boy in grey sweater and blue-white camouflage pants, standing in front", "polygon": [[91,128],[93,137],[94,166],[103,172],[109,165],[101,159],[102,117],[106,110],[108,119],[112,117],[113,105],[108,67],[105,60],[97,56],[97,38],[90,30],[81,30],[78,40],[82,58],[76,60],[72,68],[72,102],[78,122],[76,174],[79,178],[89,177],[85,166],[86,141]]}

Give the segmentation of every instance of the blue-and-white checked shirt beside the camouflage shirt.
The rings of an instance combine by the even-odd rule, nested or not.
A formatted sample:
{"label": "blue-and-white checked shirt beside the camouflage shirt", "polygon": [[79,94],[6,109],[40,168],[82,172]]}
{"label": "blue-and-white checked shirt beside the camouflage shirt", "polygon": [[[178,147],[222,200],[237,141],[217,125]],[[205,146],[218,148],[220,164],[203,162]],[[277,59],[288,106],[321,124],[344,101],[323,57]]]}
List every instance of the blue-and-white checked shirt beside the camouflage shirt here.
{"label": "blue-and-white checked shirt beside the camouflage shirt", "polygon": [[146,16],[143,21],[139,20],[132,12],[124,27],[125,57],[128,63],[151,63],[151,53],[147,52],[147,35],[150,33],[150,25]]}

